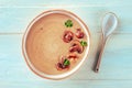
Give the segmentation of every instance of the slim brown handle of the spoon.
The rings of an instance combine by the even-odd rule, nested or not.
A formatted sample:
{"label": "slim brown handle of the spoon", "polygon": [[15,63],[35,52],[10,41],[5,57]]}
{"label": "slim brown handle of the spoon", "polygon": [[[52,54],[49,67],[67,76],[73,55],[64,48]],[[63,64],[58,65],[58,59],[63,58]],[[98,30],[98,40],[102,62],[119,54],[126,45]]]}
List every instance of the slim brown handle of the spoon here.
{"label": "slim brown handle of the spoon", "polygon": [[102,54],[103,54],[106,41],[107,41],[107,40],[103,40],[103,42],[102,42],[102,44],[101,44],[101,50],[100,50],[100,52],[99,52],[99,57],[98,57],[98,59],[97,59],[96,69],[95,69],[96,73],[99,72],[99,67],[100,67],[101,57],[102,57]]}

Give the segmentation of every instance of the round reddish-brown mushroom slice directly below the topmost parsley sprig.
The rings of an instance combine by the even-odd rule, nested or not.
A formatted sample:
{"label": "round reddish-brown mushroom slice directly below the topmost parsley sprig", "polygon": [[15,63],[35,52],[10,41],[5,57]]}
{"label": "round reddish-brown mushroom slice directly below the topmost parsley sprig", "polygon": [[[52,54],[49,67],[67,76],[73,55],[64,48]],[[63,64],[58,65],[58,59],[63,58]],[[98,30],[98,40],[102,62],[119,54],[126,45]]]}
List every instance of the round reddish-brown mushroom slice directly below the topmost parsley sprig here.
{"label": "round reddish-brown mushroom slice directly below the topmost parsley sprig", "polygon": [[70,31],[65,31],[63,35],[63,41],[69,43],[74,38],[74,33]]}

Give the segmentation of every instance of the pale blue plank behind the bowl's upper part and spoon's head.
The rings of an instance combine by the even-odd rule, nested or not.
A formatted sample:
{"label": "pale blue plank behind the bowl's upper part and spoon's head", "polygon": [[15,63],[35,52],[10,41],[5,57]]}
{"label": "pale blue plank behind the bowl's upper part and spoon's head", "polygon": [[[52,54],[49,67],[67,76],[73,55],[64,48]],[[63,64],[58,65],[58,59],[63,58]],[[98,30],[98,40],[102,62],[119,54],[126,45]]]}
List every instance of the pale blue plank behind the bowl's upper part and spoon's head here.
{"label": "pale blue plank behind the bowl's upper part and spoon's head", "polygon": [[103,14],[111,11],[119,16],[119,26],[116,33],[132,33],[130,7],[0,8],[0,33],[23,33],[36,15],[51,9],[65,9],[74,12],[82,19],[91,32],[100,32]]}

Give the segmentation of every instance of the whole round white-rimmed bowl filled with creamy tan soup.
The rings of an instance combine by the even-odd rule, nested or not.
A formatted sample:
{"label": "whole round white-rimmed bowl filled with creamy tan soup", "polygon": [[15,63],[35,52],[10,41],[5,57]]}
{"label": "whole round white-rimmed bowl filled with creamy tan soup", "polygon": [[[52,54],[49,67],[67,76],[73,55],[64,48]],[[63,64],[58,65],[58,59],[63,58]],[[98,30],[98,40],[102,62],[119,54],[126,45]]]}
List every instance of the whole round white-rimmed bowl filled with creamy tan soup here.
{"label": "whole round white-rimmed bowl filled with creamy tan soup", "polygon": [[[72,21],[74,24],[70,24]],[[72,26],[66,25],[66,22]],[[63,68],[67,67],[66,69],[58,70],[55,63],[69,53],[67,48],[72,45],[72,42],[63,40],[63,32],[74,33],[75,29],[82,29],[82,40],[87,42],[87,46],[82,46],[84,53],[78,54],[80,58],[74,61],[74,64],[70,63],[70,68],[65,66]],[[73,38],[77,40],[76,33]],[[78,41],[80,40],[81,37],[78,37]],[[76,14],[66,10],[48,10],[37,15],[26,28],[22,40],[22,52],[28,66],[36,75],[48,79],[63,79],[74,74],[87,58],[89,46],[90,33],[87,25]]]}

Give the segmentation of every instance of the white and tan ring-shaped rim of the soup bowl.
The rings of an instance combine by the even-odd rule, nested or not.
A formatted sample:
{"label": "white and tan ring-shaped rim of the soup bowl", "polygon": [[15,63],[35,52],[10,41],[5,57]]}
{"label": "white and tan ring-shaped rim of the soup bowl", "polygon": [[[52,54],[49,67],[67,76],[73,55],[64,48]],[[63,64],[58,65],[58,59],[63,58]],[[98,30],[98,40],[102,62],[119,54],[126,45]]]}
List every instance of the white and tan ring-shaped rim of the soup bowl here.
{"label": "white and tan ring-shaped rim of the soup bowl", "polygon": [[[28,54],[26,54],[26,47],[25,47],[25,43],[26,43],[26,37],[28,37],[28,34],[29,34],[29,31],[31,30],[31,26],[36,22],[38,21],[41,18],[45,16],[45,15],[48,15],[51,13],[62,13],[62,14],[65,14],[65,15],[68,15],[70,18],[73,18],[74,20],[76,20],[80,26],[84,28],[84,31],[85,33],[87,34],[88,38],[87,38],[87,42],[88,42],[88,46],[87,46],[87,50],[85,52],[85,56],[81,58],[81,61],[79,62],[79,64],[73,68],[70,72],[68,73],[65,73],[65,74],[61,74],[61,75],[47,75],[47,74],[44,74],[40,70],[37,70],[35,68],[35,66],[32,65],[32,63],[30,62],[30,58],[28,57]],[[37,76],[40,77],[43,77],[43,78],[47,78],[47,79],[63,79],[63,78],[66,78],[68,76],[70,76],[72,74],[74,74],[75,72],[77,72],[80,66],[82,65],[82,63],[85,62],[85,59],[87,58],[88,54],[89,54],[89,48],[90,48],[90,32],[89,32],[89,29],[88,26],[76,15],[74,14],[73,12],[70,11],[67,11],[67,10],[59,10],[59,9],[55,9],[55,10],[47,10],[47,11],[44,11],[42,12],[41,14],[38,14],[36,18],[34,18],[30,24],[28,25],[24,34],[23,34],[23,37],[22,37],[22,54],[23,54],[23,57],[25,59],[25,63],[26,65],[29,66],[29,68],[34,73],[36,74]]]}

